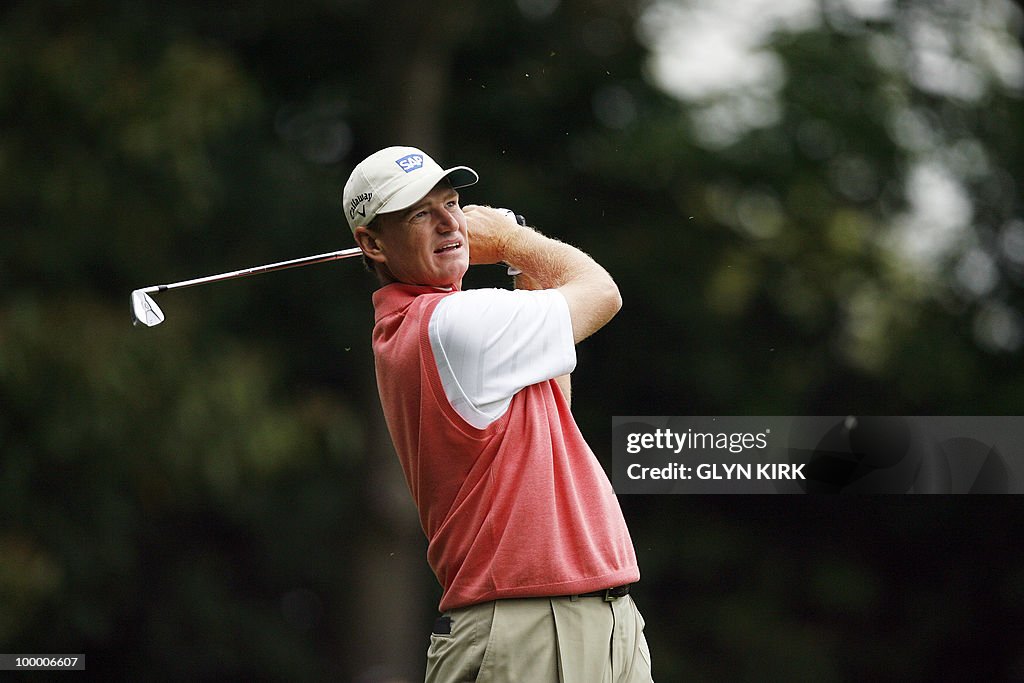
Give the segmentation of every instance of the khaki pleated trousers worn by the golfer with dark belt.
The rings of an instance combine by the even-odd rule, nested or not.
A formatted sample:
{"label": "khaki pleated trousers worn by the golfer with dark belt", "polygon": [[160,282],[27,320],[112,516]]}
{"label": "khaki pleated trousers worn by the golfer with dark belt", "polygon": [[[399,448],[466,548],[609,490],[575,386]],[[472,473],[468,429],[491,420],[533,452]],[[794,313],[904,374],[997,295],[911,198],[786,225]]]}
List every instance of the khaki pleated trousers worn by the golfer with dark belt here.
{"label": "khaki pleated trousers worn by the golfer with dark belt", "polygon": [[445,612],[426,683],[651,683],[644,622],[630,596],[496,600]]}

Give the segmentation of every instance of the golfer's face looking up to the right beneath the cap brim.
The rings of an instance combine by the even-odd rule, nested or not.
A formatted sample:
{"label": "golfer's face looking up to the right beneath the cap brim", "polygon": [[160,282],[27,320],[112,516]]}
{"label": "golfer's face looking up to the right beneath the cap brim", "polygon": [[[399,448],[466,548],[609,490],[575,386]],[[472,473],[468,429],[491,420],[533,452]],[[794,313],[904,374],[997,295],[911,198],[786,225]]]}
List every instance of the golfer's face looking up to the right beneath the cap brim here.
{"label": "golfer's face looking up to the right beneath the cap brim", "polygon": [[371,229],[386,279],[408,285],[447,287],[462,282],[469,268],[469,232],[459,193],[437,184],[408,209],[378,214]]}

